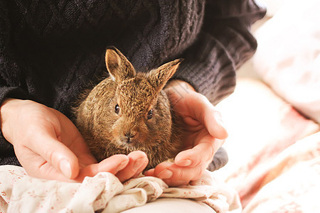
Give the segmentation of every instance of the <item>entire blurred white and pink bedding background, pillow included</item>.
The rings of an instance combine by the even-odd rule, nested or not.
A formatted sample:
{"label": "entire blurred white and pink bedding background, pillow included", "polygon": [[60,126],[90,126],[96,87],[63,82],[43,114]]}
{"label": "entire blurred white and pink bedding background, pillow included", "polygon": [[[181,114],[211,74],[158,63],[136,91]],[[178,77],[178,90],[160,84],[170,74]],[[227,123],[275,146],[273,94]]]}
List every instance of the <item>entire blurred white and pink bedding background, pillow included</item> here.
{"label": "entire blurred white and pink bedding background, pillow included", "polygon": [[244,212],[320,212],[320,1],[257,2],[257,52],[216,106],[229,162],[214,173]]}

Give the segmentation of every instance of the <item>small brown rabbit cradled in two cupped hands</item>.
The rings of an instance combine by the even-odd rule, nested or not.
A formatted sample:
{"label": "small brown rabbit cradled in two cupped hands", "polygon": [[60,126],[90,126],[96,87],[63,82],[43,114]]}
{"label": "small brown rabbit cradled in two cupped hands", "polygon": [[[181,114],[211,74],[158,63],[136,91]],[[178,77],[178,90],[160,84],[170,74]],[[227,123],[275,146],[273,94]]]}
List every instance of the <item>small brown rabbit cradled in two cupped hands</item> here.
{"label": "small brown rabbit cradled in two cupped hands", "polygon": [[[146,169],[181,151],[181,129],[162,90],[181,60],[148,73],[136,72],[117,48],[107,48],[110,77],[102,80],[75,107],[75,124],[97,160],[144,151]],[[180,140],[179,140],[180,139]]]}

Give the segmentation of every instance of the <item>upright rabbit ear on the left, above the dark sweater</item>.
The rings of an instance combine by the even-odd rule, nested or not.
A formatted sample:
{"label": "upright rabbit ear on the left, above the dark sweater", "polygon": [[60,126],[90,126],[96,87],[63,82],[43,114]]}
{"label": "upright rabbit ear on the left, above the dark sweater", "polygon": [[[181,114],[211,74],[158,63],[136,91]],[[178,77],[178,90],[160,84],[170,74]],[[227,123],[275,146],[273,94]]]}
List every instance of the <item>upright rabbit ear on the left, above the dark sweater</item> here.
{"label": "upright rabbit ear on the left, above the dark sweater", "polygon": [[110,76],[116,82],[122,82],[136,76],[136,71],[131,62],[117,48],[107,48],[105,64]]}

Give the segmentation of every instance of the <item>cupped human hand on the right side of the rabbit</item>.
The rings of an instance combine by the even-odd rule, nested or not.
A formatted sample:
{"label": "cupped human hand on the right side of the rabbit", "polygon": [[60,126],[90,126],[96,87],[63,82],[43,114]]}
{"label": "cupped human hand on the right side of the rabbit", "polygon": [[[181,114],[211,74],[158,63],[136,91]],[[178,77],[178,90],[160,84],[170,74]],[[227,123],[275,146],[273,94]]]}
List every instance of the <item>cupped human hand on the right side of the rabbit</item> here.
{"label": "cupped human hand on the right side of the rabbit", "polygon": [[144,174],[161,178],[170,186],[186,185],[201,178],[228,133],[220,113],[190,84],[174,80],[165,91],[182,121],[184,151],[176,155],[174,163],[160,163]]}

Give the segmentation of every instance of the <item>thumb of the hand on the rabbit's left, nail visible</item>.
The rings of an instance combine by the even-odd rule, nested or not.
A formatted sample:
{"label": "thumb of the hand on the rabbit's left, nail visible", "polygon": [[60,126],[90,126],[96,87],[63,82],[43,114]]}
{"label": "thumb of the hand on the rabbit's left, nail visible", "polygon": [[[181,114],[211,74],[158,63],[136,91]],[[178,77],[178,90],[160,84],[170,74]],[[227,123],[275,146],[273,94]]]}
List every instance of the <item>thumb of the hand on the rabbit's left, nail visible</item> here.
{"label": "thumb of the hand on the rabbit's left, nail visible", "polygon": [[[33,131],[34,132],[34,131]],[[28,143],[28,148],[35,151],[50,165],[65,175],[66,178],[75,178],[79,173],[78,158],[63,143],[58,141],[55,131],[48,127],[38,129],[33,135],[33,141]],[[39,146],[41,144],[41,146]]]}

